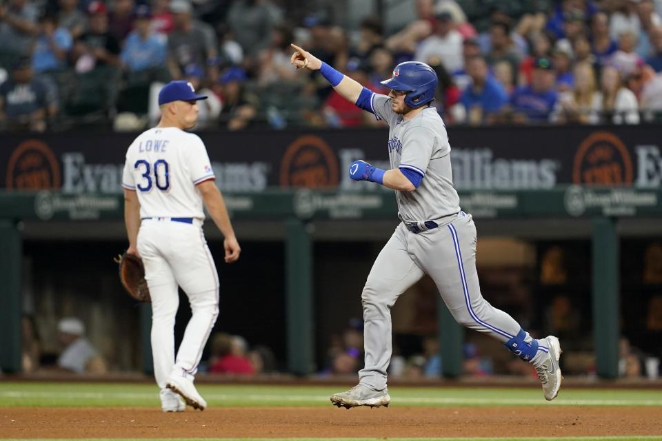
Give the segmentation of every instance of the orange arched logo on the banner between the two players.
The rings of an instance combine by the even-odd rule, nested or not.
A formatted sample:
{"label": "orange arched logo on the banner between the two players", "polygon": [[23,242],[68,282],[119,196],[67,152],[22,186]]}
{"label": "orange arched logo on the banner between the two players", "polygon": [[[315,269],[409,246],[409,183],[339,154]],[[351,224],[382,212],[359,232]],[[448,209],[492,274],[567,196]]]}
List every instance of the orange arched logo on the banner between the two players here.
{"label": "orange arched logo on the banner between the two players", "polygon": [[281,162],[283,187],[335,187],[338,160],[333,150],[317,136],[301,136],[285,150]]}

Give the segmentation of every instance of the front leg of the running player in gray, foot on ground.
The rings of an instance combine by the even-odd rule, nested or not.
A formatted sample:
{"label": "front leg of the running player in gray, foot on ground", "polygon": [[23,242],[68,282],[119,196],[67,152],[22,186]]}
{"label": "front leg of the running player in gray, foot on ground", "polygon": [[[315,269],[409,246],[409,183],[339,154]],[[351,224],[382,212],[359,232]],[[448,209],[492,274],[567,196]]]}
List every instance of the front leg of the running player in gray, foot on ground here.
{"label": "front leg of the running player in gray, foot on ground", "polygon": [[391,360],[391,307],[408,287],[423,277],[407,247],[404,227],[399,225],[374,261],[363,287],[363,345],[365,365],[359,384],[336,393],[331,402],[338,407],[388,406],[386,369]]}

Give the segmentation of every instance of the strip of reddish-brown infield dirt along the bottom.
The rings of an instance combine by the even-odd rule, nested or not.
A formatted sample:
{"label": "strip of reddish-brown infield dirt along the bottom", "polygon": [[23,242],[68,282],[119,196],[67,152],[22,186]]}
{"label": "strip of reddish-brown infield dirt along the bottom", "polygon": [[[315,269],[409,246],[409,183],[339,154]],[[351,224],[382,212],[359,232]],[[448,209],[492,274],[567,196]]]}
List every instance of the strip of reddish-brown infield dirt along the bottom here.
{"label": "strip of reddish-brown infield dirt along the bottom", "polygon": [[0,408],[0,438],[661,435],[659,407]]}

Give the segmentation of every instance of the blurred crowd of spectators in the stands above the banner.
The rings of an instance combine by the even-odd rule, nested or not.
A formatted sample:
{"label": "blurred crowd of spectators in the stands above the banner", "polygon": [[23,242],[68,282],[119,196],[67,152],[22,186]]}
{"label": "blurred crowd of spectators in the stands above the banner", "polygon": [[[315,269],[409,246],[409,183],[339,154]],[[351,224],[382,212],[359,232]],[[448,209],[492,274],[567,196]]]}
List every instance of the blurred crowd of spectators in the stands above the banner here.
{"label": "blurred crowd of spectators in the stands above the banner", "polygon": [[171,79],[210,96],[200,129],[379,124],[294,70],[291,42],[380,93],[397,63],[429,63],[448,124],[659,120],[662,0],[408,3],[392,30],[388,14],[343,27],[324,1],[6,0],[0,128],[140,130]]}

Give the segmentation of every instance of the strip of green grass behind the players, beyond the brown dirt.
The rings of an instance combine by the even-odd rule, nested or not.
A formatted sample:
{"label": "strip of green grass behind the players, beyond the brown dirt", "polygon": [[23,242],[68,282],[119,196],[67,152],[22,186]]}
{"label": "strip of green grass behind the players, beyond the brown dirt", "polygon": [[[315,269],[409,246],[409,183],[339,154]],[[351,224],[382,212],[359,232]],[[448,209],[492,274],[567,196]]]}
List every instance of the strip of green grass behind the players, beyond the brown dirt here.
{"label": "strip of green grass behind the players, beyond the brown dirt", "polygon": [[[210,407],[328,407],[343,387],[201,384]],[[528,406],[541,404],[539,389],[395,387],[394,404],[403,406]],[[154,407],[153,384],[0,382],[0,407]],[[660,406],[659,390],[564,389],[554,406]],[[662,411],[662,409],[661,409]]]}

